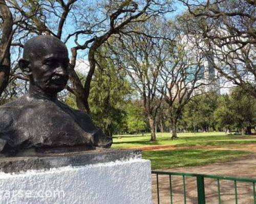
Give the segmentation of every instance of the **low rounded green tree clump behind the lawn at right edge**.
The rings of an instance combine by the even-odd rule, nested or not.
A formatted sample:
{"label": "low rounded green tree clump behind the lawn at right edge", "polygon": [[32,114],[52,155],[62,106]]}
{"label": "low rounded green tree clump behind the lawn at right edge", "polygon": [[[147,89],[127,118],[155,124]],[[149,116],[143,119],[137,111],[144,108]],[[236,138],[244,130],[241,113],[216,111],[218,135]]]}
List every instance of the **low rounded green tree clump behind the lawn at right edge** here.
{"label": "low rounded green tree clump behind the lawn at right edge", "polygon": [[229,95],[215,93],[194,97],[187,104],[183,120],[188,130],[241,131],[247,134],[256,125],[256,99],[241,88],[233,89]]}

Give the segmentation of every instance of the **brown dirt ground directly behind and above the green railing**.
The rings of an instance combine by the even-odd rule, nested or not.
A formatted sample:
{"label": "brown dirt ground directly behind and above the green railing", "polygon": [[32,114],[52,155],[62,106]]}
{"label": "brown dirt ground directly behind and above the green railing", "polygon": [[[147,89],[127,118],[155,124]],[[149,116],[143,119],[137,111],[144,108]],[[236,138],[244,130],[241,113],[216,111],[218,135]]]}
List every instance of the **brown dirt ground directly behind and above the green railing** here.
{"label": "brown dirt ground directly behind and above the green railing", "polygon": [[[245,147],[246,146],[246,147]],[[233,145],[232,145],[233,147]],[[251,150],[256,152],[255,145],[243,145],[243,150]],[[249,149],[248,149],[249,148]],[[215,148],[216,149],[216,148]],[[230,149],[230,148],[228,148]],[[236,147],[232,148],[236,149]],[[239,148],[241,149],[241,146]],[[187,173],[203,173],[226,175],[235,177],[249,177],[256,179],[256,154],[240,157],[225,163],[214,163],[205,166],[183,167],[164,169],[164,171],[187,172]],[[181,176],[172,176],[173,201],[174,203],[184,203],[183,181]],[[239,203],[253,204],[252,184],[238,182],[238,198]],[[169,193],[169,177],[159,175],[160,187],[160,203],[170,203]],[[156,175],[152,175],[152,191],[153,203],[157,203],[156,197]],[[186,178],[186,203],[197,203],[197,183],[194,178]],[[205,179],[206,203],[218,203],[217,181],[213,179]],[[221,181],[221,203],[233,204],[234,201],[234,183],[232,181]]]}

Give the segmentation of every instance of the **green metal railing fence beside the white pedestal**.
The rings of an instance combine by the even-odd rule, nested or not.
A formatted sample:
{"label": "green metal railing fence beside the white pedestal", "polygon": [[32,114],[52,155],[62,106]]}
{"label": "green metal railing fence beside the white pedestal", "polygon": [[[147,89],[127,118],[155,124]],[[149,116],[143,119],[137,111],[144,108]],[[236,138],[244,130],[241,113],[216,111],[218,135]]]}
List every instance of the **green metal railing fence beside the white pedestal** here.
{"label": "green metal railing fence beside the white pedestal", "polygon": [[255,192],[255,183],[254,179],[246,179],[239,177],[228,177],[228,176],[218,176],[218,175],[210,175],[210,174],[196,174],[196,173],[181,173],[181,172],[166,172],[166,171],[152,171],[152,174],[156,174],[156,184],[157,184],[157,203],[160,203],[160,195],[159,195],[159,175],[169,175],[169,191],[170,191],[170,203],[173,204],[173,189],[172,189],[172,175],[182,176],[183,180],[183,192],[184,192],[184,203],[186,204],[186,177],[196,177],[197,179],[197,197],[198,204],[205,204],[205,186],[204,179],[215,179],[217,181],[217,190],[218,190],[218,203],[221,204],[221,190],[220,190],[220,181],[221,180],[229,180],[234,183],[234,199],[236,200],[236,204],[238,204],[238,189],[237,182],[248,182],[252,185],[252,194],[254,204],[256,204],[256,192]]}

